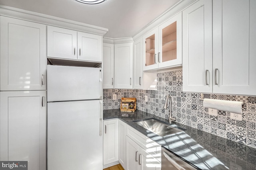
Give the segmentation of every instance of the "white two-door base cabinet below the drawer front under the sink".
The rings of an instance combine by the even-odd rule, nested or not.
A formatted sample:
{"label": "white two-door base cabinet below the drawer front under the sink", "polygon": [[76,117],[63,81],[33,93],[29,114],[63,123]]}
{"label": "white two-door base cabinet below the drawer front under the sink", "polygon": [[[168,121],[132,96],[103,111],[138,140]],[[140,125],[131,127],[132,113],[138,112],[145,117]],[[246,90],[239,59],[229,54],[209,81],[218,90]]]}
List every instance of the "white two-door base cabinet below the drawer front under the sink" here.
{"label": "white two-door base cabinet below the drawer front under the sink", "polygon": [[126,136],[126,170],[160,170],[161,163]]}

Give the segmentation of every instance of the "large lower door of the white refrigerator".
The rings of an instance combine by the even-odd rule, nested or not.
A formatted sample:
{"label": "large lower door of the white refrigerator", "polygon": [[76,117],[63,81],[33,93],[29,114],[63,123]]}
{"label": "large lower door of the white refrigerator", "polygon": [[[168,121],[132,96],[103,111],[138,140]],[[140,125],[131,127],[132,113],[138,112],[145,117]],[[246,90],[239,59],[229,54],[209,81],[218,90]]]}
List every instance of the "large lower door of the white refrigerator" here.
{"label": "large lower door of the white refrigerator", "polygon": [[47,170],[102,170],[101,100],[47,106]]}

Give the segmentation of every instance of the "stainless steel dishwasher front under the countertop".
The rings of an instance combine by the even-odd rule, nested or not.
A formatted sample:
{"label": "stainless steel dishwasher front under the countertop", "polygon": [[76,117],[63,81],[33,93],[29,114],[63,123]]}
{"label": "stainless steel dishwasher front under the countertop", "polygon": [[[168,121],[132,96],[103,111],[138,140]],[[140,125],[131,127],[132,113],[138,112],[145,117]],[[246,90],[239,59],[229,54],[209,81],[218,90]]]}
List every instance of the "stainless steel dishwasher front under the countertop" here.
{"label": "stainless steel dishwasher front under the countertop", "polygon": [[161,170],[197,170],[184,160],[181,160],[164,147],[162,147],[162,164]]}

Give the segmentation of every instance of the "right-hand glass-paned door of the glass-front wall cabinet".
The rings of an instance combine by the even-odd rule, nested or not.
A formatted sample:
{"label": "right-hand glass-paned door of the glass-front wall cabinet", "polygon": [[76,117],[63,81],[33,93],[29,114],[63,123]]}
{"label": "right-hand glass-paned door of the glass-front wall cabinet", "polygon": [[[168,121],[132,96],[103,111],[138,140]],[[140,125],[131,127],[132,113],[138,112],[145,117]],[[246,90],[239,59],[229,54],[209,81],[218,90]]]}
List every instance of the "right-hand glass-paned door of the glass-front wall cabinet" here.
{"label": "right-hand glass-paned door of the glass-front wall cabinet", "polygon": [[182,64],[182,13],[158,27],[158,68]]}

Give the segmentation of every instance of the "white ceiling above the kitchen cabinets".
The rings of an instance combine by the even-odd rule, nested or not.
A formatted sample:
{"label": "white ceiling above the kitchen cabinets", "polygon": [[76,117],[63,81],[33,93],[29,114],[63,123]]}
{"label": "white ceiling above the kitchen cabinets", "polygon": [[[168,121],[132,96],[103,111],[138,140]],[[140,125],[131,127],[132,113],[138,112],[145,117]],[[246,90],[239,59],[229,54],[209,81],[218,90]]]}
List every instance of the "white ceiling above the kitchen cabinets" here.
{"label": "white ceiling above the kitchen cabinets", "polygon": [[133,37],[180,0],[106,0],[82,4],[75,0],[0,0],[12,6],[108,28],[105,37]]}

